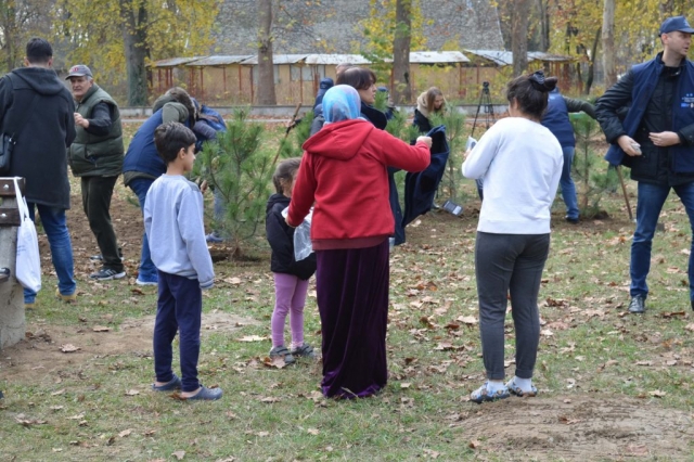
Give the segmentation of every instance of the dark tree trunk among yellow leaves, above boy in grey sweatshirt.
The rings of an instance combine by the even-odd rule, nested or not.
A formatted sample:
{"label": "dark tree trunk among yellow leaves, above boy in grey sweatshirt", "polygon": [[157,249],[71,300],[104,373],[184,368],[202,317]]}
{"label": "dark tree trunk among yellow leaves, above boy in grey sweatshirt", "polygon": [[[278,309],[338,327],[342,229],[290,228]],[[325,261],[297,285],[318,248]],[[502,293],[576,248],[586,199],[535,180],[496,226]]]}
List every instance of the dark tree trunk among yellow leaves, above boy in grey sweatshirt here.
{"label": "dark tree trunk among yellow leaves, above boy in grey sweatshirt", "polygon": [[129,106],[144,106],[147,103],[147,79],[144,66],[144,59],[149,52],[145,28],[147,11],[144,3],[138,3],[136,7],[131,0],[120,0]]}

